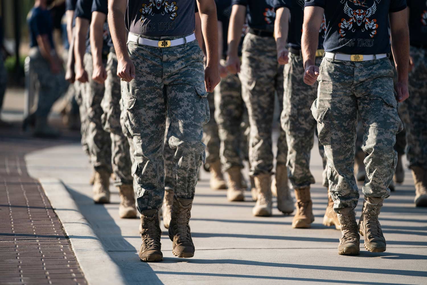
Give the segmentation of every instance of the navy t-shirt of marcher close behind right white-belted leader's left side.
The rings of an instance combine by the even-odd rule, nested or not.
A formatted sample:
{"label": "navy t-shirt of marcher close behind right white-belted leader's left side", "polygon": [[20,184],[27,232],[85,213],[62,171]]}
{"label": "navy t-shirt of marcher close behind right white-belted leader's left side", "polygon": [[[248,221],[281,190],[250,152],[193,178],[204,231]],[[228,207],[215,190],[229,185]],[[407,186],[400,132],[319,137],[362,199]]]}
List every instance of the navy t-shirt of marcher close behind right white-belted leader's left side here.
{"label": "navy t-shirt of marcher close behind right white-belted leader's left side", "polygon": [[[290,9],[290,23],[288,32],[288,46],[297,50],[301,50],[302,23],[304,21],[304,0],[274,0],[274,9],[281,7]],[[325,22],[319,30],[319,45],[318,49],[323,49],[323,41],[325,40]]]}

